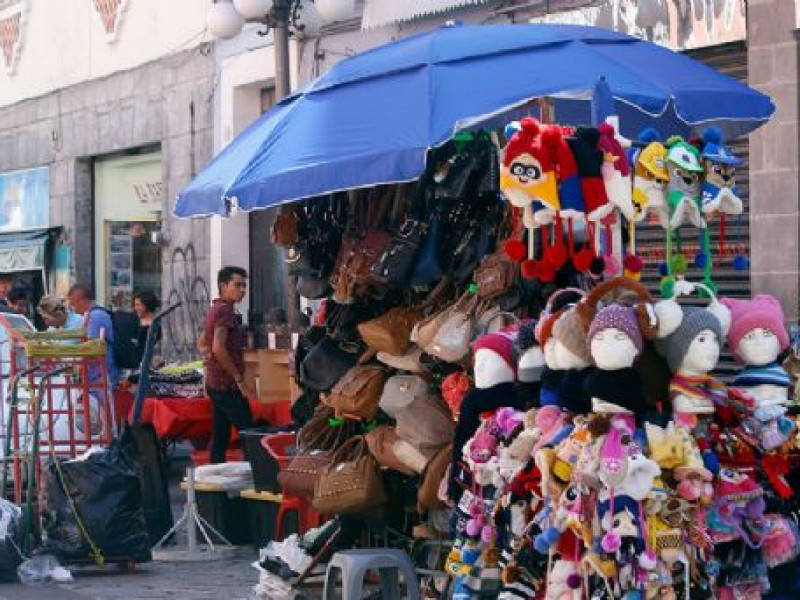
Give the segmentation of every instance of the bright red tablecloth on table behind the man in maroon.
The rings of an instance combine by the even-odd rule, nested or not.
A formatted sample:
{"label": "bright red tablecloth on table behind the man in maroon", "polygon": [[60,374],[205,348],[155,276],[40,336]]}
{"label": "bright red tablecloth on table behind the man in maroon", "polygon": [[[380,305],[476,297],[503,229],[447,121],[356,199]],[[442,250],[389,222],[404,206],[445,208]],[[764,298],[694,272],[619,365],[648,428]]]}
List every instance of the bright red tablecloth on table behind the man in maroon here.
{"label": "bright red tablecloth on table behind the man in maroon", "polygon": [[[250,401],[253,419],[282,425],[289,422],[289,402]],[[159,438],[192,440],[211,436],[208,398],[145,398],[142,422],[152,423]],[[236,433],[234,430],[234,438]],[[231,440],[233,441],[233,440]]]}

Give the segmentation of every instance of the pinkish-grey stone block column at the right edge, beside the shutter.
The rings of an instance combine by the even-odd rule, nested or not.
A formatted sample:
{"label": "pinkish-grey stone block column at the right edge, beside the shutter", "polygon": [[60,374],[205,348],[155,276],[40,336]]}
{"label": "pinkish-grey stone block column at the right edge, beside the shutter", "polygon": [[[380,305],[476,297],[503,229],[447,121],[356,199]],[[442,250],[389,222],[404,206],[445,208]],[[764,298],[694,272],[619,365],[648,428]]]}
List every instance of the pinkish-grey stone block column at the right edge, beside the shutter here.
{"label": "pinkish-grey stone block column at the right edge, beside the shutter", "polygon": [[796,0],[747,3],[749,83],[777,106],[750,136],[751,282],[778,297],[790,322],[800,313],[797,10]]}

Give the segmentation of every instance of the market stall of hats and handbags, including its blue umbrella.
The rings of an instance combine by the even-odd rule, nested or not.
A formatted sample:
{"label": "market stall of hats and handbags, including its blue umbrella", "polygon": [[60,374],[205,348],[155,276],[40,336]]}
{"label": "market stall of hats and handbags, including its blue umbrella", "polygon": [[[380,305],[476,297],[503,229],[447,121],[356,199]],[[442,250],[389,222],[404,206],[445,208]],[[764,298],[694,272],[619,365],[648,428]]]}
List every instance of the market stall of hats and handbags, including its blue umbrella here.
{"label": "market stall of hats and handbags, including its blue umbrella", "polygon": [[[283,497],[382,520],[434,567],[426,597],[797,592],[783,313],[717,297],[715,268],[747,257],[710,233],[743,211],[728,138],[773,107],[634,44],[536,26],[391,44],[285,100],[179,197],[184,216],[302,199],[271,235],[325,307],[297,351]],[[570,68],[536,88],[521,76],[536,60]],[[664,232],[658,290],[638,283],[643,221]],[[721,381],[726,345],[741,371]],[[423,540],[444,550],[422,560]],[[296,551],[264,563],[297,574]]]}

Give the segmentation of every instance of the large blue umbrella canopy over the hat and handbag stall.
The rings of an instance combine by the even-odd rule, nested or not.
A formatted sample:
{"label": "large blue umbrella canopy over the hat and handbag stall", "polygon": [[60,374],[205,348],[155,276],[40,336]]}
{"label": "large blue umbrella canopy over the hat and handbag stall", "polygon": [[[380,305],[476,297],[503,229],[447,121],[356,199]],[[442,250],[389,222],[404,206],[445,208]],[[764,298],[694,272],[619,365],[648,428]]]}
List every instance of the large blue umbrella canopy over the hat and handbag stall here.
{"label": "large blue umbrella canopy over the hat and handbag stall", "polygon": [[283,99],[221,152],[177,199],[179,217],[226,215],[338,190],[409,181],[429,148],[502,125],[550,97],[560,122],[588,124],[600,78],[622,132],[747,133],[769,97],[684,55],[574,25],[451,26],[343,60]]}

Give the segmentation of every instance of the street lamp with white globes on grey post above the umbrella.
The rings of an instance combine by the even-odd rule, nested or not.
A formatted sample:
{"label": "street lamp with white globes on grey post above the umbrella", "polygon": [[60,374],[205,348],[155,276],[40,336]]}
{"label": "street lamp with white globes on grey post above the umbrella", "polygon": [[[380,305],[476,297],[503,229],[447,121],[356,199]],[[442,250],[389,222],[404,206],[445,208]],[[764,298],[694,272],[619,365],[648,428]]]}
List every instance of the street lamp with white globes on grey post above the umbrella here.
{"label": "street lamp with white globes on grey post above the umbrella", "polygon": [[[311,0],[320,17],[341,21],[355,11],[355,0]],[[275,99],[286,96],[290,89],[290,29],[302,30],[299,22],[303,0],[216,0],[208,12],[208,29],[216,38],[230,39],[244,27],[245,21],[259,22],[264,29],[259,35],[273,32],[275,47]]]}

